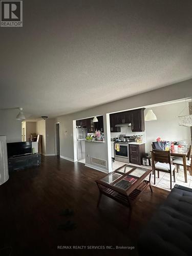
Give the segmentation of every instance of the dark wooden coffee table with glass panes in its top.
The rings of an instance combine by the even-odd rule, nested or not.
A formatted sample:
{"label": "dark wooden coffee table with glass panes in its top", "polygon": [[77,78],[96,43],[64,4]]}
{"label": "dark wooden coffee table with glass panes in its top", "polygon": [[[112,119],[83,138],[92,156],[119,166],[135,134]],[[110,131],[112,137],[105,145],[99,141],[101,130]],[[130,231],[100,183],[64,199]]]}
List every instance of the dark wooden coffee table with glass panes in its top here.
{"label": "dark wooden coffee table with glass panes in its top", "polygon": [[[151,172],[152,168],[136,167],[129,164],[116,169],[100,180],[96,180],[99,188],[99,206],[101,196],[105,195],[115,201],[132,208],[133,202],[140,194],[150,186],[151,191]],[[149,181],[145,178],[150,175]]]}

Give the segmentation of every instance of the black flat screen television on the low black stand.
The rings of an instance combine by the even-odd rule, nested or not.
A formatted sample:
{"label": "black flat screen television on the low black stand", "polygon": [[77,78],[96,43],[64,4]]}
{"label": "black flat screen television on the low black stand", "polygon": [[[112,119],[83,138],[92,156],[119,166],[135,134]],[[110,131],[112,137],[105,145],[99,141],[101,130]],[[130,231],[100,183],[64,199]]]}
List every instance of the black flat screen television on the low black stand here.
{"label": "black flat screen television on the low black stand", "polygon": [[32,154],[31,141],[7,143],[8,158]]}

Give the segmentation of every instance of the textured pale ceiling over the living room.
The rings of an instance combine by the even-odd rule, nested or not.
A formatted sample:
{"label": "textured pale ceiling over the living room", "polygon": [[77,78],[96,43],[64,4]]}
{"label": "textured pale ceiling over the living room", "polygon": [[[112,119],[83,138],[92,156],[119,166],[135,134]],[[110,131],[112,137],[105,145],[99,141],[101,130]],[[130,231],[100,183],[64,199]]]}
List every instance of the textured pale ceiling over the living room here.
{"label": "textured pale ceiling over the living room", "polygon": [[0,28],[0,109],[72,113],[192,77],[192,2],[24,1]]}

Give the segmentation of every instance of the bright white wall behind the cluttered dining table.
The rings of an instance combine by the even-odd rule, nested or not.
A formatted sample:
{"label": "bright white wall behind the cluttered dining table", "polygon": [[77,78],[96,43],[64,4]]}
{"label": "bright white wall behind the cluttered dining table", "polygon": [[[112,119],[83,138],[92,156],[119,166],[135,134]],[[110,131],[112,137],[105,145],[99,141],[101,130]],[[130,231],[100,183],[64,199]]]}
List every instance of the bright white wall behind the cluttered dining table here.
{"label": "bright white wall behind the cluttered dining table", "polygon": [[[157,116],[157,121],[145,121],[146,153],[150,153],[152,142],[157,137],[167,141],[187,140],[190,141],[190,127],[179,126],[177,116],[185,108],[185,102],[156,106],[151,108]],[[147,109],[145,110],[146,113]],[[182,115],[189,115],[186,108]]]}

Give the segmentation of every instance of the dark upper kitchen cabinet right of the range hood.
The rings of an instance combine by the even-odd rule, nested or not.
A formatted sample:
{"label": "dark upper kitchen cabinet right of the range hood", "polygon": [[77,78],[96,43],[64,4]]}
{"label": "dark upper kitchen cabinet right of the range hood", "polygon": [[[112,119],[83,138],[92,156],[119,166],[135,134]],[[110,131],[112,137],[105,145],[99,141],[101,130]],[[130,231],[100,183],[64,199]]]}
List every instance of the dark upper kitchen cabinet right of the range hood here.
{"label": "dark upper kitchen cabinet right of the range hood", "polygon": [[144,108],[138,110],[132,110],[132,132],[144,132],[145,122],[144,122]]}

